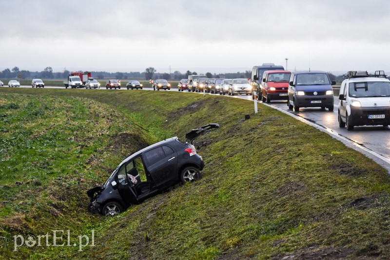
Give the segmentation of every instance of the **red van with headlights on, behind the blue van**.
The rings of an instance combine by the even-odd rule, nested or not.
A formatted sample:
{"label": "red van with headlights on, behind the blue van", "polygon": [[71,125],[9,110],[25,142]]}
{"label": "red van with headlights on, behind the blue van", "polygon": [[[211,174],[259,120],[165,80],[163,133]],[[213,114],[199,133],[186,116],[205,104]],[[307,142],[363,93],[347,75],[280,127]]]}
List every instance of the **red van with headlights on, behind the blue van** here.
{"label": "red van with headlights on, behind the blue van", "polygon": [[271,100],[287,99],[290,76],[289,71],[265,71],[260,88],[257,89],[257,99],[267,103]]}

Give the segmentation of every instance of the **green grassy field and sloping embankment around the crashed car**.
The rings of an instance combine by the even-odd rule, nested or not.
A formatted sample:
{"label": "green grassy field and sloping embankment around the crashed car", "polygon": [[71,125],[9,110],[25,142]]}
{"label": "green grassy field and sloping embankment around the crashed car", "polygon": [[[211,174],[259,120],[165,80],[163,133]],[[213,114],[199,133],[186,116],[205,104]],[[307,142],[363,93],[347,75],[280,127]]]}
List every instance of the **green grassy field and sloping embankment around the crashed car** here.
{"label": "green grassy field and sloping embankment around the crashed car", "polygon": [[[146,91],[1,89],[0,95],[4,140],[8,144],[16,137],[13,144],[20,144],[3,142],[0,148],[6,161],[18,162],[0,173],[12,176],[1,183],[1,190],[11,190],[1,194],[1,235],[95,230],[96,244],[81,252],[72,246],[24,246],[18,252],[3,250],[3,256],[386,259],[390,254],[390,180],[385,169],[268,107],[253,114],[252,102],[234,98]],[[43,111],[40,117],[26,114],[30,103],[38,106],[33,111]],[[240,121],[244,114],[251,119]],[[183,139],[187,130],[211,122],[221,128],[195,142],[206,164],[200,181],[157,195],[115,218],[86,212],[85,190],[101,184],[126,154],[162,139],[165,132]],[[51,137],[51,131],[57,135]],[[26,148],[29,142],[42,142],[37,133],[51,143]],[[42,149],[42,157],[34,159]],[[23,157],[26,150],[35,154]],[[40,165],[42,161],[50,163]]]}

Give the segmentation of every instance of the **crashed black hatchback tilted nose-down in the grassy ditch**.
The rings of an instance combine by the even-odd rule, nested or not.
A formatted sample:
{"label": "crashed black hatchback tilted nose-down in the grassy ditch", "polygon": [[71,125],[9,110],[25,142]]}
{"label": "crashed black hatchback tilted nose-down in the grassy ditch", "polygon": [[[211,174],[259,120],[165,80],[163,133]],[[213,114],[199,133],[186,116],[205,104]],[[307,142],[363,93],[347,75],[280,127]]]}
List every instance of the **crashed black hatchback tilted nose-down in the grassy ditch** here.
{"label": "crashed black hatchback tilted nose-down in the grassy ditch", "polygon": [[[193,141],[209,129],[209,124],[191,130],[186,137]],[[87,191],[89,211],[105,216],[123,212],[178,183],[200,179],[203,159],[192,144],[172,137],[133,153],[121,162],[103,186]]]}

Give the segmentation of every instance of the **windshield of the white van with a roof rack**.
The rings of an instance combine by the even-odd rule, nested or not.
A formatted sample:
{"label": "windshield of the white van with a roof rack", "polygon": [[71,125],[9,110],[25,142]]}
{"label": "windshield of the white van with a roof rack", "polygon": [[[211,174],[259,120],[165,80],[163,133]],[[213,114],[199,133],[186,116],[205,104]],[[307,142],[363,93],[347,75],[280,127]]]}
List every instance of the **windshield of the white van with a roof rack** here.
{"label": "windshield of the white van with a roof rack", "polygon": [[351,97],[390,96],[390,82],[351,82]]}

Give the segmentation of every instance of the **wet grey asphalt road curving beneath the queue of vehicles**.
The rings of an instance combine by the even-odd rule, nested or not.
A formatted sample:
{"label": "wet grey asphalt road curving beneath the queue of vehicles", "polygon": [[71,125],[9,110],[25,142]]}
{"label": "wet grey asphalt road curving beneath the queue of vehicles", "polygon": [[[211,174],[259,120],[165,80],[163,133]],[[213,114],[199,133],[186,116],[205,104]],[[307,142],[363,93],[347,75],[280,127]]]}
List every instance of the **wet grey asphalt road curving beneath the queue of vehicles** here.
{"label": "wet grey asphalt road curving beneath the queue of vehicles", "polygon": [[[21,86],[22,88],[31,88],[31,86]],[[59,87],[50,87],[46,86],[45,88],[59,88]],[[64,89],[59,88],[59,89]],[[71,89],[69,89],[71,90]],[[106,90],[105,88],[100,88],[98,90]],[[111,90],[111,91],[121,91],[126,90],[122,88],[120,90]],[[152,88],[144,88],[144,90],[152,91]],[[37,90],[39,91],[39,90]],[[91,90],[86,90],[91,91]],[[133,90],[139,91],[139,90]],[[171,91],[176,91],[177,89],[172,89]],[[189,94],[187,91],[184,91],[183,94]],[[195,93],[191,93],[195,94]],[[203,93],[196,93],[203,94]],[[206,93],[210,95],[209,93]],[[227,95],[225,95],[228,97]],[[252,100],[252,95],[235,95],[235,98]],[[257,101],[258,103],[263,103]],[[390,172],[390,127],[382,126],[363,126],[363,127],[354,127],[352,131],[348,131],[346,128],[339,128],[337,122],[337,109],[338,109],[338,97],[334,97],[334,111],[330,112],[328,109],[322,111],[320,108],[301,108],[299,112],[293,112],[288,109],[287,101],[271,101],[270,104],[258,104],[258,109],[261,110],[262,105],[270,106],[274,109],[282,111],[286,114],[289,114],[296,118],[297,120],[303,121],[313,127],[322,130],[330,134],[333,138],[343,142],[346,146],[356,149],[368,157],[372,158],[374,161],[387,168]]]}

